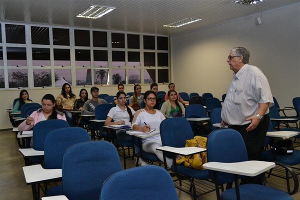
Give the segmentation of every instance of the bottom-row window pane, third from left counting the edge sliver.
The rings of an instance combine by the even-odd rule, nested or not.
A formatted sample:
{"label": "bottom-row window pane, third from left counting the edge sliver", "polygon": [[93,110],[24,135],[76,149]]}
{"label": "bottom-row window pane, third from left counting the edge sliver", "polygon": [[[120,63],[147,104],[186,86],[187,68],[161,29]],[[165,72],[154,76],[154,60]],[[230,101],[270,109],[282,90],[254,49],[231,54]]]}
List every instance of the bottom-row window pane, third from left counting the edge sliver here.
{"label": "bottom-row window pane, third from left counting the edge sliver", "polygon": [[[55,81],[58,76],[55,76]],[[51,69],[33,69],[33,85],[34,87],[51,86]]]}

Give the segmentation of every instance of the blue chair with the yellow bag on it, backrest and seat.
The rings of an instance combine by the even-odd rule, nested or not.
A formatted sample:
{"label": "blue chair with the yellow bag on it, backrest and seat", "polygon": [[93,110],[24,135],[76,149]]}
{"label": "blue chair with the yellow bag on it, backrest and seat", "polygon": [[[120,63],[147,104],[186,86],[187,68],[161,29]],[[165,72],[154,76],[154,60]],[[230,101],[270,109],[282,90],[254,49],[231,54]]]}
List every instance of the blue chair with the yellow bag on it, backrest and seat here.
{"label": "blue chair with the yellow bag on it, backrest and seat", "polygon": [[[162,146],[184,147],[185,140],[192,139],[194,137],[188,121],[183,117],[166,118],[160,123],[159,130]],[[164,155],[173,158],[173,163],[176,163],[174,154],[165,152]],[[201,195],[196,195],[194,178],[200,180],[209,179],[208,170],[206,169],[197,170],[194,168],[184,167],[184,165],[172,164],[170,170],[175,172],[179,181],[186,179],[190,182],[189,190],[185,190],[183,186],[177,188],[190,194],[194,199]]]}

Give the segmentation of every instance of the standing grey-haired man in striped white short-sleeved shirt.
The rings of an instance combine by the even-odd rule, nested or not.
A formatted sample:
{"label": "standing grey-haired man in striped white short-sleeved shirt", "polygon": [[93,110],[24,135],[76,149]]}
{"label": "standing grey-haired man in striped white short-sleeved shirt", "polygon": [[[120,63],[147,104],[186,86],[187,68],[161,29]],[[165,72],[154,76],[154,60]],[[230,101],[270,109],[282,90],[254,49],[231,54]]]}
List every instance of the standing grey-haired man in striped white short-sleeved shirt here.
{"label": "standing grey-haired man in striped white short-sleeved shirt", "polygon": [[[265,75],[249,65],[250,52],[244,47],[230,50],[227,62],[233,78],[226,92],[221,125],[237,130],[245,142],[249,160],[259,160],[270,118],[273,98]],[[261,176],[245,176],[241,183],[262,184]]]}

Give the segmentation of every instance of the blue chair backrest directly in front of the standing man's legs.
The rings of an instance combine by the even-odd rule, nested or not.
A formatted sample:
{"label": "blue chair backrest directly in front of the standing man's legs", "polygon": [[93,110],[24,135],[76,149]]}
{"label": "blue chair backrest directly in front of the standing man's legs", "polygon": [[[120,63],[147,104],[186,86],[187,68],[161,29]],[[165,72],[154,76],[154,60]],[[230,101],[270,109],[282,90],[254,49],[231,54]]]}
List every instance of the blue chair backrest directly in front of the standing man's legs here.
{"label": "blue chair backrest directly in front of the standing man's legs", "polygon": [[[248,155],[245,143],[239,132],[231,128],[213,130],[207,138],[208,162],[241,162],[247,161]],[[214,181],[213,171],[208,170],[211,180]],[[233,174],[217,172],[219,184],[233,182]]]}

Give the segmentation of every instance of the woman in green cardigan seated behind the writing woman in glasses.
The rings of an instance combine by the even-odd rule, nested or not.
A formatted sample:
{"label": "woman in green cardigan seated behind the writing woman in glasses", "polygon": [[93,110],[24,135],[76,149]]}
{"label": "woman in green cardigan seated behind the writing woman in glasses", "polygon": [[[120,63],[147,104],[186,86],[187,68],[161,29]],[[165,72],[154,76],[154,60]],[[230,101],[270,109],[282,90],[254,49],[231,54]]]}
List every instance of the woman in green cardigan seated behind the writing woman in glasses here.
{"label": "woman in green cardigan seated behind the writing woman in glasses", "polygon": [[182,103],[177,100],[177,92],[171,89],[167,95],[169,99],[162,104],[160,111],[167,116],[172,116],[174,112],[181,112],[184,115],[185,109]]}

